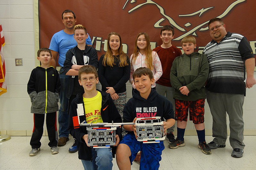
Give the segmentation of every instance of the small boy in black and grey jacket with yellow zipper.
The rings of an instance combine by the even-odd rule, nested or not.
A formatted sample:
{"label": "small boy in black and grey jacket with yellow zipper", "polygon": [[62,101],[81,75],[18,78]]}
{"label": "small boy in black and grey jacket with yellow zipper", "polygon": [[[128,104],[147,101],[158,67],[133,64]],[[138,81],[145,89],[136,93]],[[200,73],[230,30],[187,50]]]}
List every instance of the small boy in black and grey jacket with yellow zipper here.
{"label": "small boy in black and grey jacket with yellow zipper", "polygon": [[40,151],[41,138],[44,130],[44,114],[46,114],[46,127],[51,147],[51,153],[58,153],[57,119],[56,111],[59,110],[58,101],[60,94],[59,73],[50,67],[52,53],[48,48],[37,51],[37,59],[41,66],[32,70],[28,80],[28,94],[31,99],[31,113],[34,114],[34,129],[30,140],[32,150],[29,156],[35,156]]}

